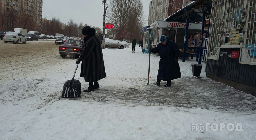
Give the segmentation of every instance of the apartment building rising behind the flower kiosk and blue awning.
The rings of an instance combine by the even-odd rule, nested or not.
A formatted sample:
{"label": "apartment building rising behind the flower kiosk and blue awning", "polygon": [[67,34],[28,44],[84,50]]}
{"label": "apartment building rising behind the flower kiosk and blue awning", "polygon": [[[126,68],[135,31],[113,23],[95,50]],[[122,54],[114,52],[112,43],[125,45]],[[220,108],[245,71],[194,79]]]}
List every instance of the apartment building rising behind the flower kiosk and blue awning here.
{"label": "apartment building rising behind the flower kiosk and blue awning", "polygon": [[149,3],[148,25],[155,20],[164,20],[193,0],[152,0]]}

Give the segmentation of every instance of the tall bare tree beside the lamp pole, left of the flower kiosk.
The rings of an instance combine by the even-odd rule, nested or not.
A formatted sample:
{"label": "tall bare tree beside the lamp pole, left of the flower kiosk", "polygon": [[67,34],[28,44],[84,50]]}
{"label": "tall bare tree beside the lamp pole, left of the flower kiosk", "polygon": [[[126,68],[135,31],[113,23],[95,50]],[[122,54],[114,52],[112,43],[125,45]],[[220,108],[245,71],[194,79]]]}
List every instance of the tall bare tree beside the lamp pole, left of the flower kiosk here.
{"label": "tall bare tree beside the lamp pole, left of the flower kiosk", "polygon": [[139,40],[143,16],[141,0],[109,0],[109,21],[114,24],[116,37],[120,40],[131,38]]}

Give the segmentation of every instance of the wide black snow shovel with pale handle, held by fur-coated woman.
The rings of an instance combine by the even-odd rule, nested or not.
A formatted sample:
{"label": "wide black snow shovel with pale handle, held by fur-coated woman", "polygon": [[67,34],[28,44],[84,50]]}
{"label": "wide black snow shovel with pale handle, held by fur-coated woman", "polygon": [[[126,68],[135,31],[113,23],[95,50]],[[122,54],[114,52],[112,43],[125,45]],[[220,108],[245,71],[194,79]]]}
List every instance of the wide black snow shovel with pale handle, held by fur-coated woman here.
{"label": "wide black snow shovel with pale handle, held by fur-coated woman", "polygon": [[[78,64],[76,65],[75,73],[77,68]],[[62,98],[81,97],[81,83],[79,82],[79,80],[74,80],[75,73],[73,75],[72,80],[68,80],[67,82],[65,82],[62,90]]]}

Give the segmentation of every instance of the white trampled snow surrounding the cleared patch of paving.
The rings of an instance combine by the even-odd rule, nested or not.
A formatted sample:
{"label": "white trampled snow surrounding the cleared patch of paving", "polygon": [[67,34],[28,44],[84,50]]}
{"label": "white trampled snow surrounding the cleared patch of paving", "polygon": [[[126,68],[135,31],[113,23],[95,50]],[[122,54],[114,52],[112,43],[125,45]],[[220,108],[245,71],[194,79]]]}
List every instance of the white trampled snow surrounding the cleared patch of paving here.
{"label": "white trampled snow surrounding the cleared patch of paving", "polygon": [[[99,81],[100,89],[82,92],[82,97],[105,92],[103,89],[110,86],[122,90],[147,86],[154,88],[160,59],[158,56],[151,55],[150,85],[147,85],[149,54],[142,53],[138,45],[135,53],[132,53],[132,47],[102,51],[107,77]],[[185,62],[179,59],[182,77],[192,75],[191,64],[198,63],[195,59]],[[49,65],[30,76],[0,81],[0,140],[256,139],[255,111],[227,113],[217,109],[188,109],[164,104],[63,99],[63,84],[72,79],[76,67],[75,59],[65,58],[64,61],[57,66]],[[206,78],[205,64],[202,64],[200,77]],[[75,79],[81,82],[82,90],[85,90],[88,83],[79,77],[80,69],[81,64]],[[164,84],[162,82],[162,86]],[[122,92],[118,94],[122,95]],[[207,123],[233,123],[237,131],[229,131],[230,127],[215,131],[210,126],[208,130],[194,127]],[[241,123],[242,129],[238,127]]]}

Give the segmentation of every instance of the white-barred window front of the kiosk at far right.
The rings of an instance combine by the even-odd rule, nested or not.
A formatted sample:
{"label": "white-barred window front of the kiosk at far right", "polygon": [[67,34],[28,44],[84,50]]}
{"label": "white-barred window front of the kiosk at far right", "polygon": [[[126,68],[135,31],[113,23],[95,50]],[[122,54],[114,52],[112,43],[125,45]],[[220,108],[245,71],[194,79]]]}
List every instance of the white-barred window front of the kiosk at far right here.
{"label": "white-barred window front of the kiosk at far right", "polygon": [[[208,59],[219,48],[240,48],[239,63],[256,65],[256,0],[214,1],[211,11]],[[223,13],[223,14],[222,14]]]}

